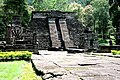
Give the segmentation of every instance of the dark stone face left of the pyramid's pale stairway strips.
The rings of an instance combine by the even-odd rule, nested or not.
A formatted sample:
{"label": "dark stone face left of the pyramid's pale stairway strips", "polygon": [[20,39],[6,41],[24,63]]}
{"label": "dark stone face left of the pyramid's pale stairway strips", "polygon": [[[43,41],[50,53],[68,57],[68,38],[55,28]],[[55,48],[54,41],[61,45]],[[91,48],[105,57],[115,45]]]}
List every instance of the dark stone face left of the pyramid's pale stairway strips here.
{"label": "dark stone face left of the pyramid's pale stairway strips", "polygon": [[50,39],[47,18],[32,19],[30,29],[37,33],[38,49],[48,49],[50,47]]}

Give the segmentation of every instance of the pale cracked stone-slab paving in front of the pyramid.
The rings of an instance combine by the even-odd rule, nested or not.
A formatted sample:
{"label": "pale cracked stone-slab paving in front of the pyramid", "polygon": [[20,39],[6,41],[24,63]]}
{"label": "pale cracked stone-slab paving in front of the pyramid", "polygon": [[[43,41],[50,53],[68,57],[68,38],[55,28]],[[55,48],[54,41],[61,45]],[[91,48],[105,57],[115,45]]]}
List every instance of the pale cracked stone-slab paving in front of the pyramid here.
{"label": "pale cracked stone-slab paving in front of the pyramid", "polygon": [[32,60],[46,80],[120,80],[120,58],[65,51],[39,54]]}

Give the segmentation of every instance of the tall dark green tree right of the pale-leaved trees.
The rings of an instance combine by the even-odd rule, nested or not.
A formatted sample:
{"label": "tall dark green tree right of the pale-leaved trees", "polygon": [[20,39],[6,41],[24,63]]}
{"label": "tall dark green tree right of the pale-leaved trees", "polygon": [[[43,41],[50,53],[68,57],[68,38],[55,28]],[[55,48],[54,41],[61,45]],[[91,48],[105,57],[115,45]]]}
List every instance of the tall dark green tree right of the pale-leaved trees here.
{"label": "tall dark green tree right of the pale-leaved trees", "polygon": [[92,0],[91,5],[93,6],[93,16],[94,16],[94,24],[96,25],[97,32],[104,35],[108,31],[108,21],[109,21],[109,5],[106,0]]}

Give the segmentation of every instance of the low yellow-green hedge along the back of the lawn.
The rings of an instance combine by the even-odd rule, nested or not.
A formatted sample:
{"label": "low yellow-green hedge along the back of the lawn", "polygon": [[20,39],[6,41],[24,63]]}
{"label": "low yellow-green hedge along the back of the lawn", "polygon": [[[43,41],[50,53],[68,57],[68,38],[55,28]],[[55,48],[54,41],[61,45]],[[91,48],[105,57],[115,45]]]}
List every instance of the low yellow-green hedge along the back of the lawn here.
{"label": "low yellow-green hedge along the back of the lawn", "polygon": [[0,59],[31,59],[32,52],[29,51],[11,51],[11,52],[0,52]]}

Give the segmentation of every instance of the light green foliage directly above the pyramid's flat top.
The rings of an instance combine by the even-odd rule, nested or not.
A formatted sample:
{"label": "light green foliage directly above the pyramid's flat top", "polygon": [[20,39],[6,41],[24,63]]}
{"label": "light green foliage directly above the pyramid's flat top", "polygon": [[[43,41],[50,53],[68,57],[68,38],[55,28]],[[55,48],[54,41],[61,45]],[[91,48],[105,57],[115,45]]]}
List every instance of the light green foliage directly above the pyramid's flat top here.
{"label": "light green foliage directly above the pyramid's flat top", "polygon": [[66,11],[67,10],[67,0],[35,0],[33,3],[33,6],[35,10],[41,11],[41,10],[61,10]]}

